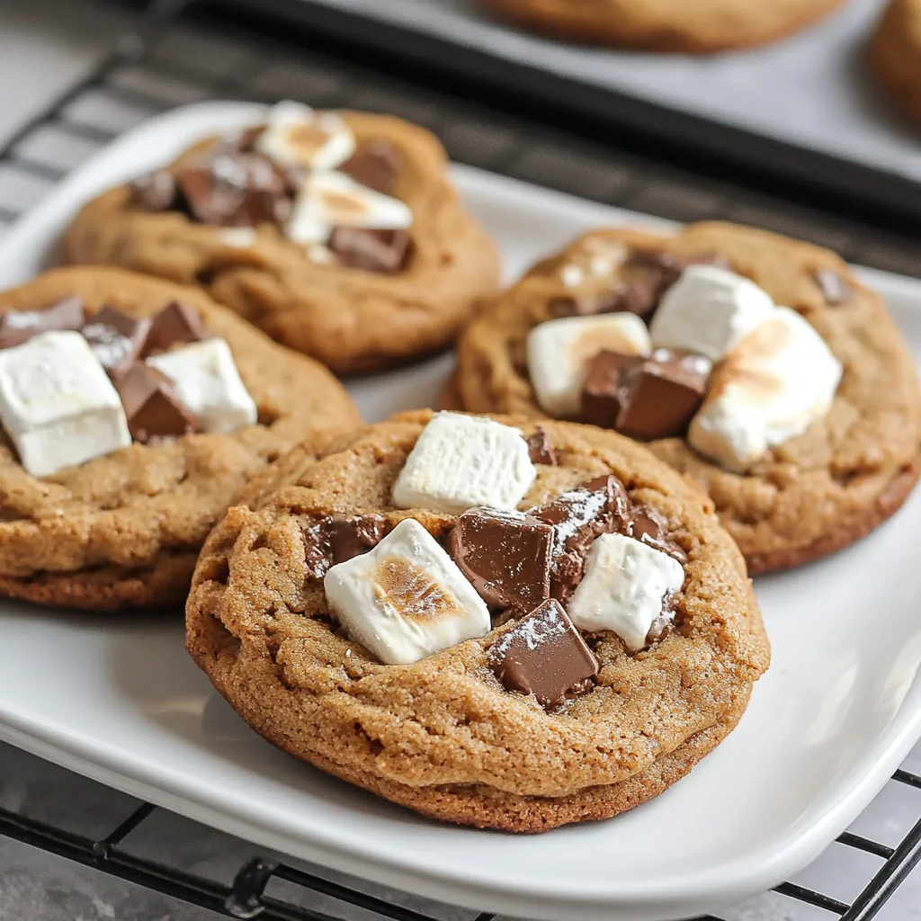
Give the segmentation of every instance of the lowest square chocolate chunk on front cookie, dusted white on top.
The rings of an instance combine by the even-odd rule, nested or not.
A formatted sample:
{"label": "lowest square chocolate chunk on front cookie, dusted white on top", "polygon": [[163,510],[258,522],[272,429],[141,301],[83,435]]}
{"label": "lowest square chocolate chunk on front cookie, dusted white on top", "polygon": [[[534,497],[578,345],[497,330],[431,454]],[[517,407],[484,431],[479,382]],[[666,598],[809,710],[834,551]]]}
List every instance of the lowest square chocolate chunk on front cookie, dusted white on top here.
{"label": "lowest square chocolate chunk on front cookie, dusted white on top", "polygon": [[599,662],[558,601],[546,600],[499,637],[489,667],[507,691],[545,708],[591,690]]}

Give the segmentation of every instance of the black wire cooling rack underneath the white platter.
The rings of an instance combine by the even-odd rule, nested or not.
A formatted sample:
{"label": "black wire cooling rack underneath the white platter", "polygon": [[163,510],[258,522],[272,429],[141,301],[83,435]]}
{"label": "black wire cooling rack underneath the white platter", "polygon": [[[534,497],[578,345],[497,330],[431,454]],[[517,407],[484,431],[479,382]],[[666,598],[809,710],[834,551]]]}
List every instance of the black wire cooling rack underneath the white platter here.
{"label": "black wire cooling rack underneath the white platter", "polygon": [[[0,149],[0,237],[81,160],[158,111],[198,99],[294,98],[317,106],[389,111],[436,131],[456,160],[607,204],[680,220],[722,217],[759,225],[831,246],[857,262],[921,274],[916,239],[871,227],[856,216],[830,215],[791,204],[769,190],[695,174],[667,156],[640,160],[623,149],[567,133],[558,124],[551,128],[514,112],[496,111],[482,96],[439,86],[431,75],[406,79],[413,75],[401,75],[396,58],[386,62],[382,73],[368,66],[382,62],[369,61],[362,50],[350,51],[342,37],[292,35],[287,30],[282,40],[266,24],[257,28],[253,21],[239,19],[228,23],[214,5],[196,10],[190,19],[185,6],[183,0],[155,3],[140,29],[123,36],[93,73],[69,87]],[[921,791],[921,775],[905,770],[897,771],[892,783]],[[3,784],[0,774],[0,792]],[[333,900],[377,918],[440,921],[362,891],[359,880],[353,886],[274,859],[244,861],[227,884],[138,857],[124,841],[157,811],[143,803],[109,834],[97,836],[0,809],[0,835],[230,917],[332,921],[340,914],[326,907]],[[918,811],[921,815],[921,799]],[[851,832],[842,834],[838,845],[880,861],[856,897],[845,902],[791,882],[775,892],[830,917],[869,921],[921,859],[921,818],[894,846]],[[301,897],[289,901],[266,894],[280,880],[299,887]],[[494,917],[470,916],[471,921]]]}

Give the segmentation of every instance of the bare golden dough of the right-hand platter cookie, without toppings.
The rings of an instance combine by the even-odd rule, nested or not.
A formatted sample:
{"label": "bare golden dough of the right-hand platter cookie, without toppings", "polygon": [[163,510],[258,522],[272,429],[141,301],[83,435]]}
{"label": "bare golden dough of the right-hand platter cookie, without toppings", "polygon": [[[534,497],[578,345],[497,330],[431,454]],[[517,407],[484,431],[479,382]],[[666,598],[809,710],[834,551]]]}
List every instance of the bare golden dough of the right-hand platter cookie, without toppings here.
{"label": "bare golden dough of the right-hand platter cookie, without toppings", "polygon": [[[705,460],[684,438],[649,444],[711,495],[752,573],[830,554],[902,505],[921,473],[921,399],[914,362],[889,312],[834,253],[747,227],[699,224],[674,237],[602,230],[578,239],[536,265],[472,322],[459,344],[446,408],[545,415],[530,385],[525,340],[550,319],[554,298],[573,296],[561,278],[565,266],[589,264],[599,246],[682,260],[722,257],[777,304],[799,311],[844,366],[828,414],[745,474]],[[599,291],[617,295],[624,283],[630,293],[650,278],[654,286],[662,280],[635,269],[628,284],[625,271],[596,280]]]}

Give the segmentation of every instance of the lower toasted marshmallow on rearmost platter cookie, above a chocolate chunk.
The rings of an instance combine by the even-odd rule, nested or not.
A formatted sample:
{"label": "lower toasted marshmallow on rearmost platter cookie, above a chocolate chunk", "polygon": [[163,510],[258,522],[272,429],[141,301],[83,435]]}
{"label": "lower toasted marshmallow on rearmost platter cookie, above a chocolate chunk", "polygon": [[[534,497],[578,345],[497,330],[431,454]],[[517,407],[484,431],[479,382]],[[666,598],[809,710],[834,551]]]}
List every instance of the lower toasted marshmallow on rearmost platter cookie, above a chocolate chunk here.
{"label": "lower toasted marshmallow on rearmost platter cookie, above a chocolate chunk", "polygon": [[296,243],[325,243],[333,227],[405,230],[412,225],[413,212],[399,199],[368,189],[345,173],[323,172],[301,184],[287,236]]}

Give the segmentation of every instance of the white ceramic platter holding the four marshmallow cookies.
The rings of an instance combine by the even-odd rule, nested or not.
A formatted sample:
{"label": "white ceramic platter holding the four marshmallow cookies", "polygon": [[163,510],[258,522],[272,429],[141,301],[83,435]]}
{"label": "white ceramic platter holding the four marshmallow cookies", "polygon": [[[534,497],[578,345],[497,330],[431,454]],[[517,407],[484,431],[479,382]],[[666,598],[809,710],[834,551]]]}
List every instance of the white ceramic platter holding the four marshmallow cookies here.
{"label": "white ceramic platter holding the four marshmallow cookies", "polygon": [[[0,246],[0,287],[53,262],[90,195],[259,110],[161,116],[77,170]],[[457,181],[515,274],[583,228],[636,215],[471,169]],[[921,357],[921,283],[866,273]],[[441,358],[353,385],[369,418],[434,400]],[[856,547],[759,580],[774,665],[729,740],[659,799],[534,837],[418,818],[274,750],[185,655],[181,616],[0,606],[0,737],[260,845],[475,908],[643,921],[712,911],[805,866],[921,736],[921,492]]]}

